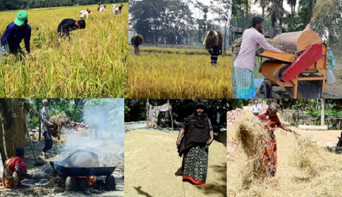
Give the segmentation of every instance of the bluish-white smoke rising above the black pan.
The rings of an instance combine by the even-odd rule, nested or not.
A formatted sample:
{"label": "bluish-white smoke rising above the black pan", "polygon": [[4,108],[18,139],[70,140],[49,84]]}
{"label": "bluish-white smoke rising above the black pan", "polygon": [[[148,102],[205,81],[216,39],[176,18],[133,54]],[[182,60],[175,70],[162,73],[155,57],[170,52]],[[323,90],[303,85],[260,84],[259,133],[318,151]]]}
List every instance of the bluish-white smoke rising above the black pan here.
{"label": "bluish-white smoke rising above the black pan", "polygon": [[84,106],[83,123],[89,125],[86,132],[71,131],[63,127],[67,141],[63,143],[58,161],[75,151],[92,151],[99,156],[102,166],[123,165],[123,98],[88,99]]}

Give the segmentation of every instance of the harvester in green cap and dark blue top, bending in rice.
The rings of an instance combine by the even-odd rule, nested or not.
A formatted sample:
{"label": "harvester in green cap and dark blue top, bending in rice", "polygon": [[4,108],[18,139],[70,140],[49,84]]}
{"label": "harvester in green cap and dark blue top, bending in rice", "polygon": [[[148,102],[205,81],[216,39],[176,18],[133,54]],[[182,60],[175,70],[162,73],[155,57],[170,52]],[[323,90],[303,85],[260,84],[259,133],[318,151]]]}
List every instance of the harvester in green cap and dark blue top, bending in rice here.
{"label": "harvester in green cap and dark blue top, bending in rice", "polygon": [[7,25],[4,34],[2,34],[0,60],[6,54],[24,55],[24,51],[20,47],[20,42],[23,39],[26,51],[30,53],[31,26],[28,25],[28,13],[26,11],[19,11],[16,19]]}

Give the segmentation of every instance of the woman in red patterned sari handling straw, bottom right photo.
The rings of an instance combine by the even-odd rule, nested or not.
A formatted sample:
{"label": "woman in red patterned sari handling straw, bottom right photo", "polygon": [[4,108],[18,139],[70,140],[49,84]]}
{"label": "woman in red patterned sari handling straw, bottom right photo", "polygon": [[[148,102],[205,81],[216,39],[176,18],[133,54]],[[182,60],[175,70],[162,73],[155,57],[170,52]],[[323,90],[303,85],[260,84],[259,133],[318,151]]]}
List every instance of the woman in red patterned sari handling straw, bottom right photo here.
{"label": "woman in red patterned sari handling straw, bottom right photo", "polygon": [[262,122],[266,122],[265,129],[267,129],[267,133],[269,134],[269,141],[265,141],[266,148],[264,150],[264,155],[260,156],[260,159],[264,165],[264,175],[265,177],[274,177],[276,176],[276,136],[274,135],[274,129],[277,127],[284,129],[287,132],[292,132],[295,135],[299,135],[297,132],[292,129],[286,127],[281,124],[279,117],[276,115],[278,112],[278,105],[276,103],[269,104],[269,108],[265,114],[257,115]]}

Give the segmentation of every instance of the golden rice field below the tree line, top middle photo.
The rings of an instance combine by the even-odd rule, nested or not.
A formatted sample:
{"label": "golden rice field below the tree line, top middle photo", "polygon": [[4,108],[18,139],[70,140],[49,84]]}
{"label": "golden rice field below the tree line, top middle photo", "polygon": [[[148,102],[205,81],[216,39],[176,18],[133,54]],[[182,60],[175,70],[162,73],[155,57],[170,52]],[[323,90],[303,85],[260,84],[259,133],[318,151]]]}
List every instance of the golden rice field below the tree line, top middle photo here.
{"label": "golden rice field below the tree line, top middle photo", "polygon": [[128,49],[129,98],[231,98],[231,54],[213,67],[204,49]]}

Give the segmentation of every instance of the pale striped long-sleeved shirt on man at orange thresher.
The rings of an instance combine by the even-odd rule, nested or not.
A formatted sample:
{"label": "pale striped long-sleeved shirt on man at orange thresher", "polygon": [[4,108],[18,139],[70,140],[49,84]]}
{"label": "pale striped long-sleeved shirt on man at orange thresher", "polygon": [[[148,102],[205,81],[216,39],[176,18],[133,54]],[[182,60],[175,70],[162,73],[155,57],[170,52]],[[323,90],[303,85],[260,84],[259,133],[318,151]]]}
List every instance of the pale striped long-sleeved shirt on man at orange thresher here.
{"label": "pale striped long-sleeved shirt on man at orange thresher", "polygon": [[234,67],[247,68],[248,70],[254,72],[255,53],[257,52],[259,45],[269,51],[281,51],[271,46],[271,44],[266,41],[264,35],[260,34],[260,32],[252,27],[243,32],[243,42],[241,43],[238,56],[234,61]]}

